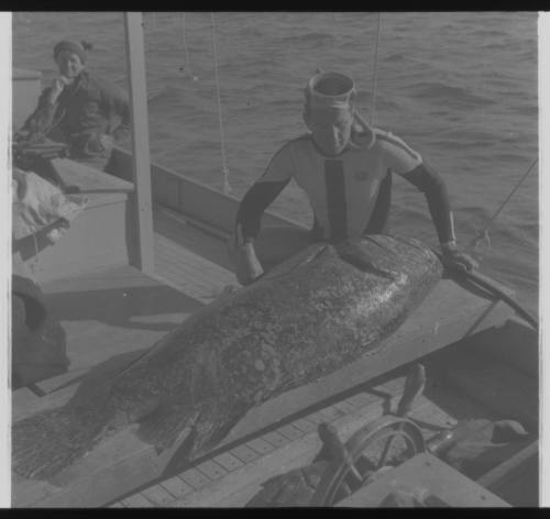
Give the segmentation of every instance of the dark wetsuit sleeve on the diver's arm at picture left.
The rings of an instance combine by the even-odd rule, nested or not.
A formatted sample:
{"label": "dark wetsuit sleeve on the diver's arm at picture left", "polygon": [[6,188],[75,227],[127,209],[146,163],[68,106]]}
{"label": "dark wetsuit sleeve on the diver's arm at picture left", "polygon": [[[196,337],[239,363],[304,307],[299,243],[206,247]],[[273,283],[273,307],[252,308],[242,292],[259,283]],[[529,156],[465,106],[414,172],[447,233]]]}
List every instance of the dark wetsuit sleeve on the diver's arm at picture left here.
{"label": "dark wetsuit sleeve on the diver's arm at picture left", "polygon": [[[262,214],[290,181],[293,175],[293,157],[289,148],[284,146],[275,154],[265,173],[249,189],[239,206],[235,229],[241,228],[244,242],[257,235]],[[235,236],[239,234],[235,232]],[[243,243],[235,243],[235,245],[240,246]]]}

